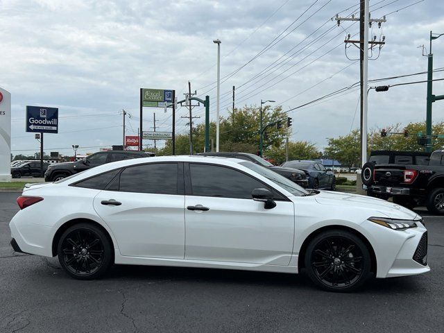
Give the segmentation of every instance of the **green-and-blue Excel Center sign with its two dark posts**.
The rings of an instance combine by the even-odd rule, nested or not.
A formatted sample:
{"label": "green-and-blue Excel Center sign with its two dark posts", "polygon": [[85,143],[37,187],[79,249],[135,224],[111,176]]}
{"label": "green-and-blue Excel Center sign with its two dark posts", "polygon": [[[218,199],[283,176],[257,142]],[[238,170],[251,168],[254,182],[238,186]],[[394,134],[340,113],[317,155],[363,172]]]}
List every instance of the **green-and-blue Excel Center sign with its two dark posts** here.
{"label": "green-and-blue Excel Center sign with its two dark posts", "polygon": [[173,109],[173,128],[172,128],[172,146],[173,155],[176,155],[176,90],[164,90],[164,89],[145,89],[140,88],[140,151],[142,151],[142,139],[143,137],[143,121],[142,113],[143,108],[169,108]]}

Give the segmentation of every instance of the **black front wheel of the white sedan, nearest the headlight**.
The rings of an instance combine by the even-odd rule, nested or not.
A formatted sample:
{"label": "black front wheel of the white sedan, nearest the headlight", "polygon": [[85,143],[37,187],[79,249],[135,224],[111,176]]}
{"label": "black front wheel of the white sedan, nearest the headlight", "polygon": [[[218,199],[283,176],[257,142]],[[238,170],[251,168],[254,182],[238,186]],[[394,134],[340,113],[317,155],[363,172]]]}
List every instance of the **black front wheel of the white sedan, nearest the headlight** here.
{"label": "black front wheel of the white sedan, nearest the headlight", "polygon": [[327,291],[355,291],[370,277],[370,266],[370,251],[364,241],[345,230],[321,232],[305,252],[309,278]]}

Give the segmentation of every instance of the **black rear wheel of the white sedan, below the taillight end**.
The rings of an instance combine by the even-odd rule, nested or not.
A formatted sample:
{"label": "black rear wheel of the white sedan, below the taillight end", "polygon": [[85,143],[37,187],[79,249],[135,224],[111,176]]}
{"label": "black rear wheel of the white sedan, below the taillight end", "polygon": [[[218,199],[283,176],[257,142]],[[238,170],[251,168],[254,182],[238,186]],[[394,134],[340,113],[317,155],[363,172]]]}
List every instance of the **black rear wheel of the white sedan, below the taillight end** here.
{"label": "black rear wheel of the white sedan, below the taillight end", "polygon": [[63,232],[58,260],[68,275],[78,280],[100,278],[110,268],[114,253],[105,232],[90,223],[78,223]]}

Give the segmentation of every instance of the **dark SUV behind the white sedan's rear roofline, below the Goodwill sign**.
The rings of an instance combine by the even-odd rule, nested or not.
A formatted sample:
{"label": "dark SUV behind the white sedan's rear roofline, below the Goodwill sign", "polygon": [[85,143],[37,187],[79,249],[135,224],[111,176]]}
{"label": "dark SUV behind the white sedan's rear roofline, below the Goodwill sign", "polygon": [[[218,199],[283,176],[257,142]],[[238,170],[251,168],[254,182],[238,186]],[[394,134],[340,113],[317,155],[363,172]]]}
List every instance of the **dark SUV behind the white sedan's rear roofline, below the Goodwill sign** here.
{"label": "dark SUV behind the white sedan's rear roofline, below the Goodwill sign", "polygon": [[74,173],[98,167],[105,163],[152,156],[154,156],[154,153],[144,151],[99,151],[99,153],[89,155],[77,162],[51,164],[44,173],[44,180],[46,182],[56,182],[74,175]]}

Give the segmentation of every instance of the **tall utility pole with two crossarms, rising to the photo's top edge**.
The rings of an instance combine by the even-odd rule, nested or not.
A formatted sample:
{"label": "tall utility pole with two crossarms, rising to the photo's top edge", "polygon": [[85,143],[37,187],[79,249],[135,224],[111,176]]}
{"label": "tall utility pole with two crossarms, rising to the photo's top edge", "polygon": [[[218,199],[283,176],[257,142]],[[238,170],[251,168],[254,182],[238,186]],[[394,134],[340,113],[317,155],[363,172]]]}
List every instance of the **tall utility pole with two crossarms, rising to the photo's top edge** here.
{"label": "tall utility pole with two crossarms, rising to the photo's top edge", "polygon": [[382,47],[382,45],[385,44],[385,37],[379,42],[376,40],[368,41],[368,27],[371,26],[372,22],[377,22],[379,27],[382,22],[386,22],[385,16],[382,19],[370,19],[369,6],[369,0],[361,0],[359,6],[359,19],[355,17],[355,15],[352,15],[352,17],[339,17],[339,15],[336,15],[335,17],[338,26],[341,24],[341,21],[359,21],[359,40],[350,40],[350,35],[348,35],[348,39],[344,42],[355,44],[355,46],[359,44],[357,47],[359,48],[359,76],[361,81],[361,98],[359,99],[361,101],[361,165],[364,165],[367,162],[368,44],[370,44],[370,48],[373,48],[375,45]]}

